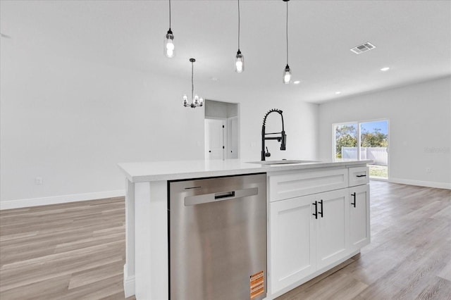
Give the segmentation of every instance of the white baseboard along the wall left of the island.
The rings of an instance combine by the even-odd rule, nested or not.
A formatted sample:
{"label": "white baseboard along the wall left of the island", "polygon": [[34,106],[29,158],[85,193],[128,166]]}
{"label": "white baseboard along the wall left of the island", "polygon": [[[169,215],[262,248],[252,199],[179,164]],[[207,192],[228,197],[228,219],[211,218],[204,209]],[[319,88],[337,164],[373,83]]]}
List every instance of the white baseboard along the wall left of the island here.
{"label": "white baseboard along the wall left of the island", "polygon": [[49,196],[42,198],[8,200],[8,201],[0,201],[0,210],[11,208],[23,208],[30,206],[41,206],[49,204],[62,204],[68,202],[87,201],[120,196],[125,196],[125,189],[116,189],[115,191],[93,192],[85,194],[71,194],[63,196]]}

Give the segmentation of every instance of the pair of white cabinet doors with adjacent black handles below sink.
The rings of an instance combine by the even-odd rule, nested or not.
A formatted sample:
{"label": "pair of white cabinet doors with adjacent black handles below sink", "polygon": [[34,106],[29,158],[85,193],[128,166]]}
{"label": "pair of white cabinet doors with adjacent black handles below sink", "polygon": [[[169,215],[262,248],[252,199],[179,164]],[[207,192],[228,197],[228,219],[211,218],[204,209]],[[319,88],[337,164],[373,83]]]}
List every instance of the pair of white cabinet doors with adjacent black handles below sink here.
{"label": "pair of white cabinet doors with adjacent black handles below sink", "polygon": [[348,196],[338,189],[270,204],[272,292],[347,256]]}

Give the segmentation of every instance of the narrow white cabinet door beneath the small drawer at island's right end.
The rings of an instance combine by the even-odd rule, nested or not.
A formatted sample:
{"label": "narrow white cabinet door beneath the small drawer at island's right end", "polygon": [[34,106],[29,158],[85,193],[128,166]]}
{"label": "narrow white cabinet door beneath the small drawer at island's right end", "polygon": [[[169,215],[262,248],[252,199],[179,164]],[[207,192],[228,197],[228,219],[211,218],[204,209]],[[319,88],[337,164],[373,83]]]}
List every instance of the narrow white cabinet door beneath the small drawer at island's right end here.
{"label": "narrow white cabinet door beneath the small drawer at island's right end", "polygon": [[350,250],[358,250],[369,242],[369,185],[350,187]]}

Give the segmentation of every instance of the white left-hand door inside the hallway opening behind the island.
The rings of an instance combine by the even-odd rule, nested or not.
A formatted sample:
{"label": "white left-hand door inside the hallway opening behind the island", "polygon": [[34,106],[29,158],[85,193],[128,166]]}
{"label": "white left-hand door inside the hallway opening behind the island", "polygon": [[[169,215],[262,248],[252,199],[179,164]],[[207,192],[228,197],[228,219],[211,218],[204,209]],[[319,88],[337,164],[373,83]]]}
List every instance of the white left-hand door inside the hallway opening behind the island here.
{"label": "white left-hand door inside the hallway opening behind the island", "polygon": [[205,157],[224,159],[224,120],[205,119]]}

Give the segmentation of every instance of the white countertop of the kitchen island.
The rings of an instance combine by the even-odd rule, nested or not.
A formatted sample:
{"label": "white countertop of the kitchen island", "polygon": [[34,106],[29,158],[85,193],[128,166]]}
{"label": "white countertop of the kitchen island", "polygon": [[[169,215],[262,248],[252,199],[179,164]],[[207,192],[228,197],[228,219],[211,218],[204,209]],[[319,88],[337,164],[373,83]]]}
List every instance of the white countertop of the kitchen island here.
{"label": "white countertop of the kitchen island", "polygon": [[371,162],[371,160],[337,160],[286,165],[260,165],[242,161],[241,159],[228,159],[226,161],[152,161],[119,163],[118,165],[130,182],[149,182],[250,173],[269,173],[310,168],[327,168],[343,165],[362,165]]}

